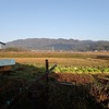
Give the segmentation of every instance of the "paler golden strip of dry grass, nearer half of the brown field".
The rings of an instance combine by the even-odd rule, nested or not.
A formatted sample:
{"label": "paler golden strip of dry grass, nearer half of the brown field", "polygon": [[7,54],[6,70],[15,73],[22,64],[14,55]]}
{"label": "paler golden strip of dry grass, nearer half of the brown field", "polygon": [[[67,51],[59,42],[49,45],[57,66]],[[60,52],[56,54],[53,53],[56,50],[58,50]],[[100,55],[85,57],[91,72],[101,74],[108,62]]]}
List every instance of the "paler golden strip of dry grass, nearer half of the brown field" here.
{"label": "paler golden strip of dry grass, nearer half of the brown field", "polygon": [[65,58],[14,58],[19,63],[29,63],[45,65],[45,60],[48,59],[50,64],[57,63],[58,65],[72,65],[72,66],[109,66],[107,60],[99,59],[65,59]]}

